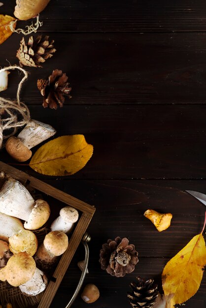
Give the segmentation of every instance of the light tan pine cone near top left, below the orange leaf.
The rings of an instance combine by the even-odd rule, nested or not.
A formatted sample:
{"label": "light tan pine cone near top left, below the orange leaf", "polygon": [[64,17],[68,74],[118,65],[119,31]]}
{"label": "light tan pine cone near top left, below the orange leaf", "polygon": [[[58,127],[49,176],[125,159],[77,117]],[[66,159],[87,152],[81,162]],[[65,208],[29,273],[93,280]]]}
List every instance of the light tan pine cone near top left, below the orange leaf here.
{"label": "light tan pine cone near top left, below the orange leaf", "polygon": [[53,46],[54,41],[48,41],[49,36],[42,38],[38,35],[35,39],[30,36],[28,43],[25,43],[24,37],[20,42],[20,48],[17,51],[17,58],[21,65],[42,67],[40,63],[45,62],[53,56],[56,49]]}

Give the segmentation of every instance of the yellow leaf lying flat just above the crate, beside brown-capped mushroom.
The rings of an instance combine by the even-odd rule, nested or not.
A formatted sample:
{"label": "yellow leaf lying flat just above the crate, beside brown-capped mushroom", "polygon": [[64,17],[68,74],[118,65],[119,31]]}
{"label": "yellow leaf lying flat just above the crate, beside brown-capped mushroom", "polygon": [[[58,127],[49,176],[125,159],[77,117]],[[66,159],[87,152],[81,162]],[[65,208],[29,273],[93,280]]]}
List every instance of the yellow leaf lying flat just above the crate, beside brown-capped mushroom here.
{"label": "yellow leaf lying flat just above the crate, beside brown-capped mushroom", "polygon": [[83,168],[93,154],[93,146],[83,135],[62,136],[40,147],[30,167],[45,175],[71,175]]}

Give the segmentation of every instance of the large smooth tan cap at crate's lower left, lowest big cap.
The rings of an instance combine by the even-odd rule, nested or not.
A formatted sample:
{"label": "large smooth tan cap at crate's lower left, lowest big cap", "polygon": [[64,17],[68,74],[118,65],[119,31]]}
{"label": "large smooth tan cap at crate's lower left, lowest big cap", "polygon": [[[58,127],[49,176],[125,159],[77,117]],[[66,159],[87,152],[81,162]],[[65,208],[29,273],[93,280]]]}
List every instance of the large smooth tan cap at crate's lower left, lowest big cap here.
{"label": "large smooth tan cap at crate's lower left, lowest big cap", "polygon": [[4,272],[5,280],[8,283],[17,287],[30,280],[34,275],[35,269],[36,264],[33,257],[27,252],[19,252],[13,255],[0,271]]}

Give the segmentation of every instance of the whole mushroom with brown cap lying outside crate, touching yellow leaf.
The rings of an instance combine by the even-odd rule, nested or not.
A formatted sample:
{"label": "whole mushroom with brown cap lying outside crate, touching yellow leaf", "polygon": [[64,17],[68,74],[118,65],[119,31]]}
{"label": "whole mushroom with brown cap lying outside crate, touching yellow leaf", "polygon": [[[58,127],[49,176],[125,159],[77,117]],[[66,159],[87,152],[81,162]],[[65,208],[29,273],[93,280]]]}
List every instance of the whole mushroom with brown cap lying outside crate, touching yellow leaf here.
{"label": "whole mushroom with brown cap lying outside crate, touching yellow leaf", "polygon": [[30,120],[17,137],[6,142],[6,151],[17,161],[26,161],[32,156],[30,149],[50,138],[56,130],[48,124]]}

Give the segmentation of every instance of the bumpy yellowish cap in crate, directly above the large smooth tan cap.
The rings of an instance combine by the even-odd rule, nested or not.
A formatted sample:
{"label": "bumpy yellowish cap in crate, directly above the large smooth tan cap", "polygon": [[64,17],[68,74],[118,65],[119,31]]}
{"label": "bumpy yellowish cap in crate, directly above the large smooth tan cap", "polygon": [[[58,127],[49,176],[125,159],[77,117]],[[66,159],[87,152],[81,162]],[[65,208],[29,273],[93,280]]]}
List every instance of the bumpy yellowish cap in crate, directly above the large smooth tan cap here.
{"label": "bumpy yellowish cap in crate, directly above the large smooth tan cap", "polygon": [[9,249],[14,254],[18,252],[27,252],[31,256],[37,250],[38,241],[35,234],[29,230],[20,230],[9,239]]}

